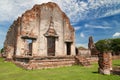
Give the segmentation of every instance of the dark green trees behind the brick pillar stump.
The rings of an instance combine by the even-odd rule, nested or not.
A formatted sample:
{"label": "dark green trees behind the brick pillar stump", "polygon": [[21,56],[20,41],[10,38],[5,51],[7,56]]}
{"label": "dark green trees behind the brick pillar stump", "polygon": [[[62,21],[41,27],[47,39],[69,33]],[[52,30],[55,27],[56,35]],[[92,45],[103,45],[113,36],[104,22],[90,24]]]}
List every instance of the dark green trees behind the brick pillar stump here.
{"label": "dark green trees behind the brick pillar stump", "polygon": [[99,40],[95,46],[100,52],[112,52],[114,55],[120,55],[120,38]]}

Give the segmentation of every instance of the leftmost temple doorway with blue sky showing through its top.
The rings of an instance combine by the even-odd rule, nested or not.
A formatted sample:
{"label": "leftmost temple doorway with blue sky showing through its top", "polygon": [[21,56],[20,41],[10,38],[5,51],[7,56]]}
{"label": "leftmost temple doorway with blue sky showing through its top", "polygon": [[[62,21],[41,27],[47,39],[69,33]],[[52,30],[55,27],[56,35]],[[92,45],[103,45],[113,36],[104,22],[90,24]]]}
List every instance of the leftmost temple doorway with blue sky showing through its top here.
{"label": "leftmost temple doorway with blue sky showing through its top", "polygon": [[32,56],[32,39],[25,39],[25,55]]}

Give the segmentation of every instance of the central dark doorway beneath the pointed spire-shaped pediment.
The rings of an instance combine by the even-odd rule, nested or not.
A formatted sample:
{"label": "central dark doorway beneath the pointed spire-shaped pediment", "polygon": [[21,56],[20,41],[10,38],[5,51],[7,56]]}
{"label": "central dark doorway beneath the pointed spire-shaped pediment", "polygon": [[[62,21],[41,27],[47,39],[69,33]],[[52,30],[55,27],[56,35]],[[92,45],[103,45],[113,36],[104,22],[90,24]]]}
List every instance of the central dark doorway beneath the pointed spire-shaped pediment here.
{"label": "central dark doorway beneath the pointed spire-shaped pediment", "polygon": [[48,56],[55,56],[55,37],[47,37]]}

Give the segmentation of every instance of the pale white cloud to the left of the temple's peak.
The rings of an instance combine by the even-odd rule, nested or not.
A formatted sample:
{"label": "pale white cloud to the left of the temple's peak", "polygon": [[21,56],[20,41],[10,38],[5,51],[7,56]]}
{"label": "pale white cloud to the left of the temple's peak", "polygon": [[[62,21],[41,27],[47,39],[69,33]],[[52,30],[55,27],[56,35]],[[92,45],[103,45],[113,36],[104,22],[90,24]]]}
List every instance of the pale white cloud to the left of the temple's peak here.
{"label": "pale white cloud to the left of the temple's peak", "polygon": [[13,21],[35,4],[51,0],[0,0],[0,22]]}

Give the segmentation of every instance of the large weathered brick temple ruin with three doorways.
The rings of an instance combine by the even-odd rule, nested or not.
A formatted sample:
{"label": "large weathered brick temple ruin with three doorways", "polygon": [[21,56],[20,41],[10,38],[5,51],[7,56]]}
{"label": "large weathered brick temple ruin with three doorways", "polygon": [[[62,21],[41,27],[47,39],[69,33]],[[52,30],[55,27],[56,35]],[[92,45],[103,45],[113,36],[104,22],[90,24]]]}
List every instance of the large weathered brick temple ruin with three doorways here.
{"label": "large weathered brick temple ruin with three doorways", "polygon": [[27,68],[71,65],[75,63],[75,31],[56,3],[35,5],[10,26],[4,49],[7,59]]}

